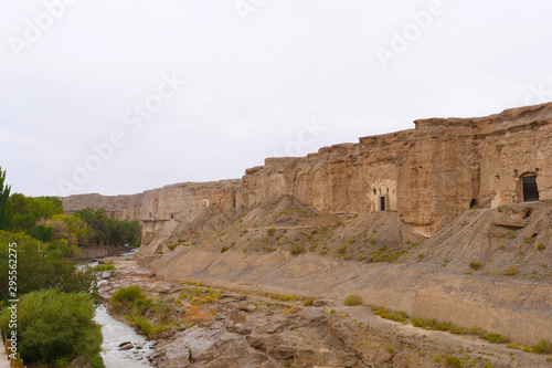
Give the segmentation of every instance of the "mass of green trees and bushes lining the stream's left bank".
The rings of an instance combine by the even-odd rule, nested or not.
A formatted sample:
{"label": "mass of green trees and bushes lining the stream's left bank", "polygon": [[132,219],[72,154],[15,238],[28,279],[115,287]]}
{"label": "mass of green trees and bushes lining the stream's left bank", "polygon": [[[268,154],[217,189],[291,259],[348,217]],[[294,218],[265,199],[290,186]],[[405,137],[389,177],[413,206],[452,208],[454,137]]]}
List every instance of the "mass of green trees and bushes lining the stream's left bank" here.
{"label": "mass of green trees and bushes lining the stream's left bank", "polygon": [[[0,169],[0,298],[6,306],[12,286],[9,260],[17,251],[18,350],[22,359],[65,367],[79,357],[91,367],[103,367],[98,355],[102,334],[93,319],[94,305],[100,299],[96,276],[114,265],[78,271],[73,256],[91,244],[136,242],[140,225],[92,210],[83,213],[94,214],[91,218],[97,221],[87,222],[88,218],[65,215],[57,198],[10,197],[10,191],[6,171]],[[8,313],[0,314],[2,328],[9,327]]]}

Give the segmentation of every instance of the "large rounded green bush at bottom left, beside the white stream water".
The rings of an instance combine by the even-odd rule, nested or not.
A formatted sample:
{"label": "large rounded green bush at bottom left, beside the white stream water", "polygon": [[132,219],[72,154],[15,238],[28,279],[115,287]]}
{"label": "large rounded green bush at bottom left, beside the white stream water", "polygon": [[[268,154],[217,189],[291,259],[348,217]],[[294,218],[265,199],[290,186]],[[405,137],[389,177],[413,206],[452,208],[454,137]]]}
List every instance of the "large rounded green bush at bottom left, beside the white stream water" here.
{"label": "large rounded green bush at bottom left, beside the white stream water", "polygon": [[[25,361],[51,364],[82,356],[93,360],[102,346],[102,332],[94,322],[94,303],[85,293],[68,294],[56,290],[21,296],[18,308],[18,347]],[[10,319],[4,309],[3,327]]]}

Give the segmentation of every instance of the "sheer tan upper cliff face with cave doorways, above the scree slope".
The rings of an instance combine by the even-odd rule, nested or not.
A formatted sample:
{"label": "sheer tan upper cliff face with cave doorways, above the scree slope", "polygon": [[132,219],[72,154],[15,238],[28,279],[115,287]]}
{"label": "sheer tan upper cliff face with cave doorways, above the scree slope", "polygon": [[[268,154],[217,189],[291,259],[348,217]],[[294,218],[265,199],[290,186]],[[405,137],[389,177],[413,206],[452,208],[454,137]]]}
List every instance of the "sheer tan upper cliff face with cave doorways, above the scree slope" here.
{"label": "sheer tan upper cliff face with cave doorways, above the scree slope", "polygon": [[135,196],[64,198],[71,212],[105,208],[116,218],[183,220],[214,207],[254,209],[291,197],[320,213],[397,211],[431,236],[470,207],[523,201],[523,178],[552,199],[552,104],[479,118],[431,118],[415,129],[360,138],[300,158],[267,158],[242,180],[180,183]]}

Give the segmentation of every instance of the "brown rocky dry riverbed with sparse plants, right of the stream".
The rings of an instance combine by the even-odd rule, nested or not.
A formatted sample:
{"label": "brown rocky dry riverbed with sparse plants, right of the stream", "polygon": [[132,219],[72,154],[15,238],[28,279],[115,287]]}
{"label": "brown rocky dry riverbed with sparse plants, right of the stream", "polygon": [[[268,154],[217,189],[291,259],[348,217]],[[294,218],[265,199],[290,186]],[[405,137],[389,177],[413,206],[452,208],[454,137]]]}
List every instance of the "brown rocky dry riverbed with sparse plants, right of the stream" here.
{"label": "brown rocky dry riverbed with sparse plants, right of the stream", "polygon": [[157,367],[552,367],[550,356],[403,325],[364,305],[315,299],[306,306],[290,295],[163,282],[131,259],[107,261],[116,270],[102,285],[104,297],[139,285],[170,306],[173,328],[159,334],[149,355]]}

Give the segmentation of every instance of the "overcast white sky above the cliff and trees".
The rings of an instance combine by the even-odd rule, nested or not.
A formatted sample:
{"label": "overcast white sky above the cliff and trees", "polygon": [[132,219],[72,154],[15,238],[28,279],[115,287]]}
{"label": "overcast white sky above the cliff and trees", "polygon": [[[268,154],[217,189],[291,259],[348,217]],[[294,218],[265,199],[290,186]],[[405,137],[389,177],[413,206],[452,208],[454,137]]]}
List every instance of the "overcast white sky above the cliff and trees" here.
{"label": "overcast white sky above the cliff and trees", "polygon": [[552,99],[551,1],[438,2],[0,0],[0,167],[26,196],[135,193]]}

